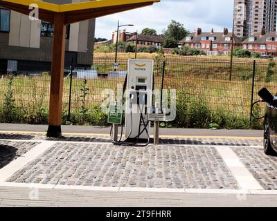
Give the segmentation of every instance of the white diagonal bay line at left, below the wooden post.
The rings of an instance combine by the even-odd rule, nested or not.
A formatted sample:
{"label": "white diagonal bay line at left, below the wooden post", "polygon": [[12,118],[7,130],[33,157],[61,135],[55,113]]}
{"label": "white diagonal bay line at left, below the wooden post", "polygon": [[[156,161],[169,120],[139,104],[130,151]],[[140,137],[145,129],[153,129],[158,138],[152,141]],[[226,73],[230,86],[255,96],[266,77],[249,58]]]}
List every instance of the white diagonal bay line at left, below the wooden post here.
{"label": "white diagonal bay line at left, below the wooden post", "polygon": [[35,160],[36,157],[44,153],[48,148],[53,146],[56,142],[52,141],[44,141],[41,144],[38,144],[34,148],[32,148],[30,151],[22,155],[21,157],[18,157],[17,160],[14,160],[10,162],[7,166],[4,166],[2,169],[0,169],[0,182],[4,182],[7,180],[10,176],[17,173],[20,169],[22,169],[26,164],[31,162],[32,160]]}

